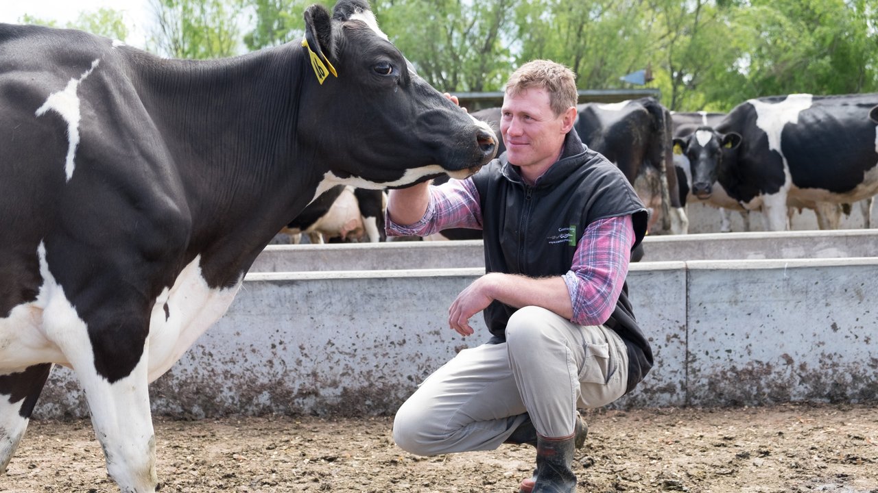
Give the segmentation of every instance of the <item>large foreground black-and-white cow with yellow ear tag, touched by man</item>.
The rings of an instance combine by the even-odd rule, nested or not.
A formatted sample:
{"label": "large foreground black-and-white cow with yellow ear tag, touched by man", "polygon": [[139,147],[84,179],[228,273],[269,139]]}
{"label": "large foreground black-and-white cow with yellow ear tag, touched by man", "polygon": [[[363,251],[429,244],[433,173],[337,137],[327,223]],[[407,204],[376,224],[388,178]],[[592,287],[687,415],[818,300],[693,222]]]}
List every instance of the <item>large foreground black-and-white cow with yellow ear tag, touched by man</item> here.
{"label": "large foreground black-and-white cow with yellow ear tag, touched by man", "polygon": [[0,472],[60,364],[120,489],[154,492],[148,382],[282,226],[337,184],[493,158],[493,131],[412,72],[363,0],[304,17],[302,43],[217,61],[0,24]]}

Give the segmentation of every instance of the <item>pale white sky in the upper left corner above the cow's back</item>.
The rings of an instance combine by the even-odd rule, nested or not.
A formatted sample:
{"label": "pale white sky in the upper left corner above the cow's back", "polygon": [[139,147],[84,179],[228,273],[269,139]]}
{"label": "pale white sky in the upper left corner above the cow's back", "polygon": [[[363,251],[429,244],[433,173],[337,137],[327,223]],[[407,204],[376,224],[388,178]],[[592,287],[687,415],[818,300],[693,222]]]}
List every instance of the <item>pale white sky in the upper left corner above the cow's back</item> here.
{"label": "pale white sky in the upper left corner above the cow's back", "polygon": [[58,25],[76,21],[79,13],[100,8],[122,11],[129,30],[128,44],[143,47],[147,25],[153,13],[149,0],[0,0],[0,22],[17,24],[25,14],[41,19],[52,19]]}

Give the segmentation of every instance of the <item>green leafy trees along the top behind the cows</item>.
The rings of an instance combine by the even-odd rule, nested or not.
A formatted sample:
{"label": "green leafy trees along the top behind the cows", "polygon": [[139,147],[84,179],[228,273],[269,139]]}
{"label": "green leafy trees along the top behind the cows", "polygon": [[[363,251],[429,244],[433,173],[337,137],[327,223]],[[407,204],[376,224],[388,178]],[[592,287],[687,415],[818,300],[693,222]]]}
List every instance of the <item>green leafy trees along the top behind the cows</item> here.
{"label": "green leafy trees along the top behind the cows", "polygon": [[[149,49],[212,58],[298,42],[314,0],[150,0]],[[335,0],[318,0],[331,8]],[[378,24],[419,74],[450,92],[493,91],[549,58],[580,89],[631,87],[651,68],[662,103],[728,111],[756,96],[878,91],[874,0],[371,0]],[[77,27],[124,39],[113,11]],[[38,19],[39,20],[39,19]]]}

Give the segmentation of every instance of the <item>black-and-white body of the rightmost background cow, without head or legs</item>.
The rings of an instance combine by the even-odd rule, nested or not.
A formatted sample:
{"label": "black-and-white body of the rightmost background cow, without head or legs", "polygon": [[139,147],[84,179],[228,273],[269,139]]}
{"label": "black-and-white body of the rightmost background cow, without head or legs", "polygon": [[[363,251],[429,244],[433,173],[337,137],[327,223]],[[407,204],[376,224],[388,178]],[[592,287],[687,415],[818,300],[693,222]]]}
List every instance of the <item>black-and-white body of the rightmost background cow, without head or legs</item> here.
{"label": "black-and-white body of the rightmost background cow, without head or legs", "polygon": [[878,190],[878,127],[869,111],[878,94],[766,96],[739,104],[717,131],[738,132],[728,160],[738,200],[772,194],[785,182],[812,201],[850,202]]}

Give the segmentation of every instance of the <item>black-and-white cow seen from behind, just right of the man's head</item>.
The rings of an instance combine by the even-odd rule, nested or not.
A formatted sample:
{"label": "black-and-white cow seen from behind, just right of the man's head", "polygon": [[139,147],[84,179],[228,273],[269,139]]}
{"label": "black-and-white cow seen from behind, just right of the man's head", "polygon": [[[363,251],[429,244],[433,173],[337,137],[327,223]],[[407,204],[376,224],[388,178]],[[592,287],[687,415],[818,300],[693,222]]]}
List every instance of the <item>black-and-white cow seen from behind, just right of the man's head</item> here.
{"label": "black-and-white cow seen from behind, just right of the man's head", "polygon": [[670,111],[655,98],[613,104],[579,104],[575,128],[579,138],[618,166],[637,195],[662,218],[662,232],[687,232],[673,167]]}

